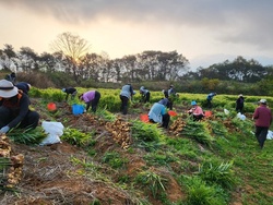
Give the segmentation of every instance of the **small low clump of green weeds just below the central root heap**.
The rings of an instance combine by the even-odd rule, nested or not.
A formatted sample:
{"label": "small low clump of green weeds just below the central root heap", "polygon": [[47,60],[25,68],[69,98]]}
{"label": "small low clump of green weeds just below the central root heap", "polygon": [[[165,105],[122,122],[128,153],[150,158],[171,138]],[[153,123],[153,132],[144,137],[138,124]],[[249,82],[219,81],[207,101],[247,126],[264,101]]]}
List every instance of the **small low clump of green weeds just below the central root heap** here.
{"label": "small low clump of green weeds just below the central root heap", "polygon": [[112,169],[117,169],[127,164],[128,159],[122,158],[117,152],[106,152],[103,157],[103,162],[108,164]]}

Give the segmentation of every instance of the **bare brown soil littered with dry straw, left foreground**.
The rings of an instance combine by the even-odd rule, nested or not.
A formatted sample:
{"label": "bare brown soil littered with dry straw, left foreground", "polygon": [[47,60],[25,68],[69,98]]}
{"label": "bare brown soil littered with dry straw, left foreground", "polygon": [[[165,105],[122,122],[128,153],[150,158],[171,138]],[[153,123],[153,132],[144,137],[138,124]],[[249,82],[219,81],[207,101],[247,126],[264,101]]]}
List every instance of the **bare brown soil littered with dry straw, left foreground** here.
{"label": "bare brown soil littered with dry straw, left foreground", "polygon": [[[37,100],[33,99],[32,105],[35,107]],[[71,107],[66,102],[57,105],[61,109],[61,114],[57,114],[56,121],[66,121],[70,128],[76,128],[84,132],[96,130],[96,145],[94,149],[97,154],[103,155],[107,150],[118,150],[129,158],[129,164],[122,173],[114,173],[111,177],[120,176],[132,177],[138,173],[141,167],[145,166],[141,154],[128,154],[112,138],[111,133],[105,128],[105,123],[95,119],[92,113],[82,116],[73,116]],[[46,114],[45,108],[37,110],[40,113],[40,122],[50,120],[50,114]],[[127,114],[126,120],[139,118],[139,114]],[[24,165],[22,179],[16,185],[15,193],[0,192],[1,205],[59,205],[59,204],[111,204],[111,205],[132,205],[138,204],[138,197],[129,191],[124,191],[107,180],[97,180],[92,176],[84,174],[82,165],[74,165],[71,158],[76,158],[80,161],[92,162],[86,150],[61,142],[48,146],[28,146],[24,144],[14,144],[11,142],[12,154],[23,154]],[[93,161],[96,164],[96,161]],[[175,165],[174,165],[175,166]],[[107,170],[105,170],[105,174]],[[164,172],[163,170],[157,170]],[[104,173],[104,170],[102,170]],[[170,183],[167,189],[167,195],[170,201],[176,202],[183,197],[177,181],[167,172],[164,173],[169,179]],[[150,197],[152,198],[152,197]],[[161,204],[161,202],[151,200],[151,204]]]}

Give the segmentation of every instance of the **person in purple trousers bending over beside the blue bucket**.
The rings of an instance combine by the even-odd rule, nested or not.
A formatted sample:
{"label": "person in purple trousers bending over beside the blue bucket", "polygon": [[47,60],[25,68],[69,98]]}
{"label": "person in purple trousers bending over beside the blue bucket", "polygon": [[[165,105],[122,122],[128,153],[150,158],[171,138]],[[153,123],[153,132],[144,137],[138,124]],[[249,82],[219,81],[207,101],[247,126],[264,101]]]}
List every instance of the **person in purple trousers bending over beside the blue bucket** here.
{"label": "person in purple trousers bending over beside the blue bucket", "polygon": [[100,99],[100,93],[97,91],[90,91],[79,96],[79,99],[86,104],[86,111],[92,107],[92,111],[96,112],[97,105]]}

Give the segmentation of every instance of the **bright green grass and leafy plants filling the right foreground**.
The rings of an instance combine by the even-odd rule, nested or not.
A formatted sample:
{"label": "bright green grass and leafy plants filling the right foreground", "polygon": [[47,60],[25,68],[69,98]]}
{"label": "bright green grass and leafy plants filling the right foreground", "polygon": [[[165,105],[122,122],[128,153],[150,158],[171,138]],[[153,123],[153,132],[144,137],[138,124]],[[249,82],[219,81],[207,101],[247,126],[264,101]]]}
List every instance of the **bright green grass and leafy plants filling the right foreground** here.
{"label": "bright green grass and leafy plants filling the right foreground", "polygon": [[[41,95],[38,91],[35,92],[36,95]],[[43,91],[41,96],[54,96],[58,100],[61,98],[54,95],[52,91],[49,94]],[[193,96],[200,99],[202,97],[180,96],[183,101],[191,101]],[[104,109],[98,109],[96,113],[99,119],[108,122],[115,121],[116,116],[106,108],[112,110],[114,107],[119,107],[115,96],[110,95],[110,98],[115,104],[106,105],[104,101]],[[216,101],[218,105],[224,101],[232,104],[228,100],[223,96],[222,101],[219,95]],[[249,106],[248,109],[253,108]],[[138,108],[133,110],[140,112]],[[253,122],[249,119],[237,119],[233,111],[227,116],[223,110],[221,106],[214,108],[215,118],[202,122],[186,119],[186,128],[176,136],[169,135],[155,124],[134,120],[130,128],[133,142],[128,150],[116,146],[115,149],[98,153],[100,150],[95,148],[102,142],[94,140],[94,133],[67,128],[62,135],[63,141],[90,148],[86,153],[90,160],[73,158],[75,166],[82,166],[73,176],[94,176],[95,179],[119,185],[132,198],[146,198],[149,192],[163,205],[225,205],[234,202],[244,205],[273,204],[273,141],[265,141],[261,150],[251,133],[254,129]],[[50,119],[54,118],[51,114]],[[133,164],[133,156],[138,156],[145,165],[136,167],[134,176],[126,176],[128,165]],[[170,181],[165,173],[178,181],[179,189],[187,193],[185,198],[177,198],[173,203],[166,200]],[[150,203],[145,201],[143,204]]]}

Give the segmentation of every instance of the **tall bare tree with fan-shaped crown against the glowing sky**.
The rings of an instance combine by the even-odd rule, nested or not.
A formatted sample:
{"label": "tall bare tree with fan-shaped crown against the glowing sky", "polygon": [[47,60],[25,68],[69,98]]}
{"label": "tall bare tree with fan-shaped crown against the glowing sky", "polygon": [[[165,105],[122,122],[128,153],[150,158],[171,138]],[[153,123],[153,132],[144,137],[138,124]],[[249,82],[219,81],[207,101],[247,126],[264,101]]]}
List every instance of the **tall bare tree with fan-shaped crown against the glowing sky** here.
{"label": "tall bare tree with fan-shaped crown against the glowing sky", "polygon": [[54,51],[61,51],[66,56],[67,60],[71,63],[75,82],[80,83],[80,59],[87,53],[91,48],[87,40],[81,38],[79,35],[67,32],[58,35],[50,47]]}

